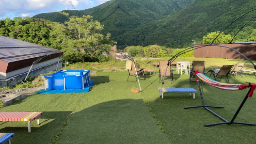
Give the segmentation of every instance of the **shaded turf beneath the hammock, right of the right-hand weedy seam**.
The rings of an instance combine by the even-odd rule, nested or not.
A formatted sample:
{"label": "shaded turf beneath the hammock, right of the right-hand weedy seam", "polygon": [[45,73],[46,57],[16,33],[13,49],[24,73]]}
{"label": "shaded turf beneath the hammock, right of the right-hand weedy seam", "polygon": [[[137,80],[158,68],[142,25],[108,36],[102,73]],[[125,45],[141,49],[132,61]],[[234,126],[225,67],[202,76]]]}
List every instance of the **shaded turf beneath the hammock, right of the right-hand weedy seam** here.
{"label": "shaded turf beneath the hammock, right of the right-hand weedy seam", "polygon": [[[229,75],[230,83],[242,84],[247,79],[235,79]],[[221,82],[225,83],[227,80],[223,79]],[[253,79],[253,81],[255,81]],[[164,99],[156,99],[150,103],[150,108],[159,117],[159,121],[164,124],[166,133],[172,143],[254,143],[255,137],[250,135],[255,131],[256,126],[242,125],[242,124],[223,124],[218,126],[204,127],[204,124],[212,124],[223,122],[219,117],[214,116],[204,108],[190,108],[184,107],[200,106],[202,101],[200,98],[197,84],[189,84],[188,76],[181,76],[178,83],[174,86],[180,88],[194,88],[197,90],[196,99],[189,97],[189,93],[164,93]],[[248,84],[248,83],[247,83]],[[225,108],[210,108],[218,115],[228,121],[232,119],[237,108],[244,100],[244,96],[249,89],[241,91],[228,91],[215,88],[208,84],[200,83],[203,93],[205,105],[223,106]],[[255,108],[252,107],[256,99],[248,99],[235,121],[244,123],[256,123],[256,116],[254,115]],[[188,135],[189,133],[189,135]],[[207,137],[207,139],[205,139]],[[236,139],[236,140],[235,140]]]}

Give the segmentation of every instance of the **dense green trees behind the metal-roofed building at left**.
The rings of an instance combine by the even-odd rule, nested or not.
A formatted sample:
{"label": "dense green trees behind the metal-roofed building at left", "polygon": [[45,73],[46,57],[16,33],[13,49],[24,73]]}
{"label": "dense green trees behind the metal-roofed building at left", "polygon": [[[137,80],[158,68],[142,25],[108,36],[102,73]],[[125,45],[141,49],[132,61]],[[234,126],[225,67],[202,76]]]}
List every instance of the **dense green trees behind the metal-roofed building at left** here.
{"label": "dense green trees behind the metal-roofed building at left", "polygon": [[62,58],[70,63],[107,60],[102,53],[116,42],[110,40],[110,33],[101,34],[104,25],[89,15],[62,14],[68,17],[64,24],[29,17],[0,20],[0,35],[62,50]]}

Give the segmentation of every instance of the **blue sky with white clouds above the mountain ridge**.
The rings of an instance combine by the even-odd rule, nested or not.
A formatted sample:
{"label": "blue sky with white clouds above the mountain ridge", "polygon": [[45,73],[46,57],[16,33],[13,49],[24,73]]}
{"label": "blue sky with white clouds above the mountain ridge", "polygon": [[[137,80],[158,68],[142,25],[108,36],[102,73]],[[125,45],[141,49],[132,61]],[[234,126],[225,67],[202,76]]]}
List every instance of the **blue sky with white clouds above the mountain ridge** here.
{"label": "blue sky with white clouds above the mountain ridge", "polygon": [[84,10],[107,1],[109,0],[0,0],[0,20],[33,17],[38,13],[74,10],[74,7],[76,10]]}

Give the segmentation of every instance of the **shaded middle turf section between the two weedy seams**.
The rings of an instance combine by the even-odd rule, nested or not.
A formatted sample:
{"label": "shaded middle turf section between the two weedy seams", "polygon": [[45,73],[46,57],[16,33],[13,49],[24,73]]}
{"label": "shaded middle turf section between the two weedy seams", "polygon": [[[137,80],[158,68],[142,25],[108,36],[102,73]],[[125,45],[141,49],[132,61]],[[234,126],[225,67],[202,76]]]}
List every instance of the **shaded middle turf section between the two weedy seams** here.
{"label": "shaded middle turf section between the two weedy seams", "polygon": [[143,100],[113,100],[72,115],[58,143],[168,143]]}

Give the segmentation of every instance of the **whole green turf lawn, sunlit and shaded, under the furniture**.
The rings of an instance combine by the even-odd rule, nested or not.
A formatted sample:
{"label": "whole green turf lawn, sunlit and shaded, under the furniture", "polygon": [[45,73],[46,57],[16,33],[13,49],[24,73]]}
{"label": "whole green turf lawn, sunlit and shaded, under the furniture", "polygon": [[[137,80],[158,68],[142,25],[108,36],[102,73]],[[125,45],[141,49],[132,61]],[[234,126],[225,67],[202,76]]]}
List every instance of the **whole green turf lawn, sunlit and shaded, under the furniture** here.
{"label": "whole green turf lawn, sunlit and shaded, under the furniture", "polygon": [[[195,58],[186,58],[186,61]],[[198,59],[197,59],[198,60]],[[206,68],[236,64],[239,60],[202,59]],[[140,67],[156,69],[138,61]],[[245,61],[249,67],[249,63]],[[124,69],[125,62],[115,67]],[[78,66],[69,66],[78,67]],[[92,65],[80,65],[80,68],[95,70]],[[202,105],[199,92],[196,99],[188,93],[164,93],[164,99],[158,100],[158,73],[140,80],[142,92],[135,77],[128,72],[111,69],[113,64],[105,64],[91,76],[94,80],[88,93],[69,94],[33,94],[0,109],[0,112],[43,111],[40,125],[31,122],[28,133],[27,122],[0,122],[0,132],[13,132],[12,143],[255,143],[256,126],[241,124],[223,124],[204,127],[204,124],[223,122],[204,108],[184,109],[188,106]],[[109,68],[108,68],[109,67]],[[75,68],[79,69],[79,68]],[[175,68],[174,68],[175,69]],[[209,76],[209,75],[208,75]],[[230,83],[256,84],[256,76],[250,74],[230,76]],[[226,83],[226,78],[221,82]],[[178,75],[174,71],[174,82],[166,82],[164,87],[191,87],[198,90],[197,84],[189,83],[189,75]],[[210,108],[230,121],[236,109],[244,99],[248,89],[225,91],[208,84],[201,84],[205,105],[223,106]],[[256,123],[256,92],[248,98],[235,121]]]}

